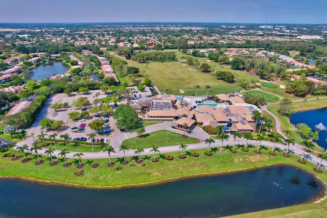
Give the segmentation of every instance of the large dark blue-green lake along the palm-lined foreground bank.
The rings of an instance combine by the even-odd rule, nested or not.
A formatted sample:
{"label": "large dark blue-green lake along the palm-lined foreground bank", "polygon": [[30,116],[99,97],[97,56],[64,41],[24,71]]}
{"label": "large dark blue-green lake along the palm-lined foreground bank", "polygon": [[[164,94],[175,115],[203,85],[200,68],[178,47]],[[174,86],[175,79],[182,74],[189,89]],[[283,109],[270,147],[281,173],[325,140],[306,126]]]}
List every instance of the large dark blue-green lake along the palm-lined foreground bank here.
{"label": "large dark blue-green lake along the palm-lined foreground bank", "polygon": [[0,180],[0,217],[218,217],[306,203],[325,191],[288,165],[121,189]]}

